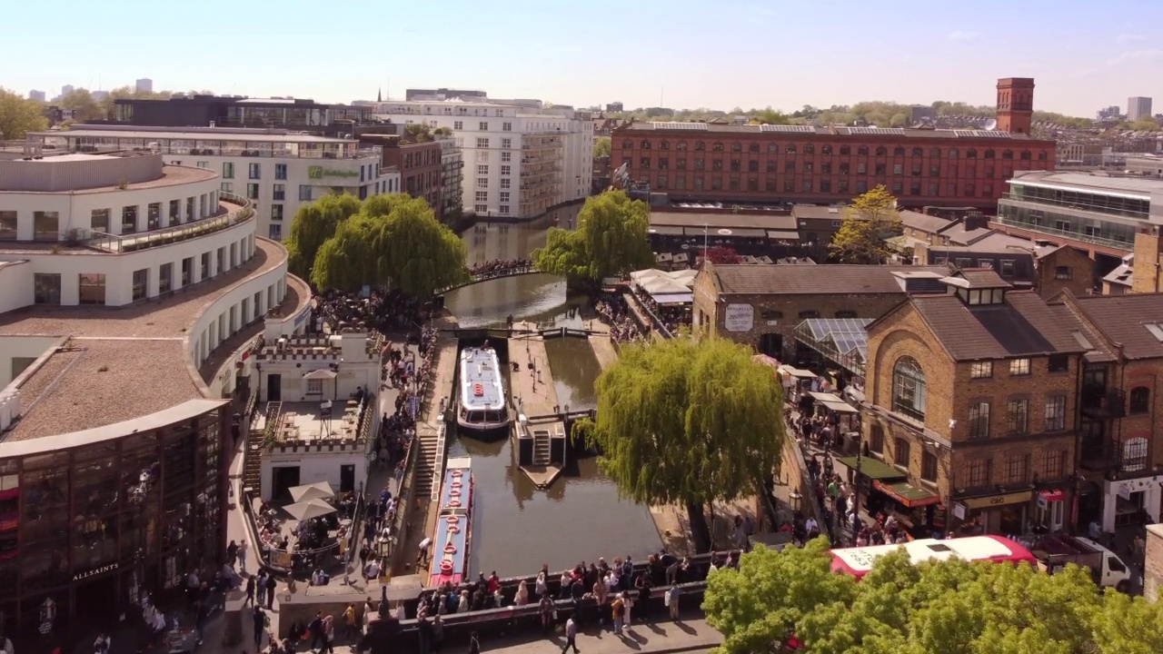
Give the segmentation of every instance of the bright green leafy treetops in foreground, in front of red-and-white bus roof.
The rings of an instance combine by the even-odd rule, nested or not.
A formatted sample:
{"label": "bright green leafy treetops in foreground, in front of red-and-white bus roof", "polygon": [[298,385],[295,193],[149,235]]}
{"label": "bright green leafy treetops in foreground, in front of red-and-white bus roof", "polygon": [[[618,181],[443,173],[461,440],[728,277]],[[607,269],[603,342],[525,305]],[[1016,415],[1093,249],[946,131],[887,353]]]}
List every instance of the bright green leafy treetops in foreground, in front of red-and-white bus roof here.
{"label": "bright green leafy treetops in foreground, in front of red-and-white bus roof", "polygon": [[901,550],[861,582],[830,571],[827,540],[757,547],[716,571],[702,603],[719,654],[770,652],[794,634],[805,654],[1146,654],[1163,652],[1163,605],[1108,590],[1075,566],[933,561]]}

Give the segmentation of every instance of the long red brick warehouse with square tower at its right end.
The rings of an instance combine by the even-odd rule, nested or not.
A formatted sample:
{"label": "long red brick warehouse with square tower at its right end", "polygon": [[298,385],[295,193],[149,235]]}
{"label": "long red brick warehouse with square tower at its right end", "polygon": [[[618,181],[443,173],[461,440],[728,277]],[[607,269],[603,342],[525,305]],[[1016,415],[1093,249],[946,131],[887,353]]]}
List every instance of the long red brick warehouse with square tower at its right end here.
{"label": "long red brick warehouse with square tower at its right end", "polygon": [[993,212],[1015,171],[1054,170],[1033,138],[1034,80],[998,80],[998,130],[642,122],[612,165],[672,201],[832,204],[884,185],[905,206]]}

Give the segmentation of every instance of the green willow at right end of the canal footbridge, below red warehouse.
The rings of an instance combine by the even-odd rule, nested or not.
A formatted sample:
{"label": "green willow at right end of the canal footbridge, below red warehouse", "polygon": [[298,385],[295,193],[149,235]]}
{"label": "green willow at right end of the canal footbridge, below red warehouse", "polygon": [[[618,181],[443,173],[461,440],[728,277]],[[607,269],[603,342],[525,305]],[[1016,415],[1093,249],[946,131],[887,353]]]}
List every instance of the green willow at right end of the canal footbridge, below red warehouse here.
{"label": "green willow at right end of the canal footbridge, below red warehouse", "polygon": [[537,270],[572,284],[599,284],[605,277],[654,265],[647,230],[650,206],[625,191],[586,198],[577,229],[552,227],[545,247],[533,253]]}

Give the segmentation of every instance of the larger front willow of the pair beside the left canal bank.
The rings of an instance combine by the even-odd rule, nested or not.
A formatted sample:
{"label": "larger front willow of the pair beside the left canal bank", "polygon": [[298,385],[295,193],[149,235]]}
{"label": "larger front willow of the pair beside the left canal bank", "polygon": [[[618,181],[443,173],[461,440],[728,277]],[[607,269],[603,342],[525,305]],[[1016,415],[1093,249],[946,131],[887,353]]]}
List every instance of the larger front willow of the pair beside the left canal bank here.
{"label": "larger front willow of the pair beside the left canal bank", "polygon": [[320,289],[370,284],[428,298],[468,277],[466,255],[464,241],[423,199],[372,196],[319,247],[311,280]]}

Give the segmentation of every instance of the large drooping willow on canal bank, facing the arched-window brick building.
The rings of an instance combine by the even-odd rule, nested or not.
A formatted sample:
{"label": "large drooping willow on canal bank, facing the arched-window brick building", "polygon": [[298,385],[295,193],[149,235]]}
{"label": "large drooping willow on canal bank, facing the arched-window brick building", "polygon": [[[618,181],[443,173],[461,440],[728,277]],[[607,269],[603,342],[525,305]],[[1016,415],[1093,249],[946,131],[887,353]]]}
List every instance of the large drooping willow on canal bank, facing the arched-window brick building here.
{"label": "large drooping willow on canal bank, facing the arched-window brick building", "polygon": [[783,390],[751,350],[721,339],[630,344],[597,383],[595,422],[579,433],[602,471],[644,504],[683,504],[695,546],[704,509],[759,492],[779,463]]}

